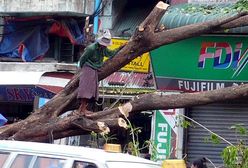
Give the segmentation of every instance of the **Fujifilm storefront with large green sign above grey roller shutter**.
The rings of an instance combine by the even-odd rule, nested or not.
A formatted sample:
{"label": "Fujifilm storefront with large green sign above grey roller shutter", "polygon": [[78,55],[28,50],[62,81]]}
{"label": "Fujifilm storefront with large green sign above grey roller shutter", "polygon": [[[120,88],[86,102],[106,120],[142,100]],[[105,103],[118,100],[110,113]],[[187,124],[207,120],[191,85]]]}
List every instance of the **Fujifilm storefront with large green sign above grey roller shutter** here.
{"label": "Fujifilm storefront with large green sign above grey roller shutter", "polygon": [[[156,88],[162,92],[199,92],[247,83],[247,37],[200,36],[162,46],[151,52]],[[234,142],[230,127],[245,124],[247,101],[237,100],[185,109],[186,114],[210,130]],[[245,124],[245,126],[247,126]],[[206,143],[209,132],[199,127],[186,130],[184,154],[189,161],[207,156],[221,164],[225,143]]]}

